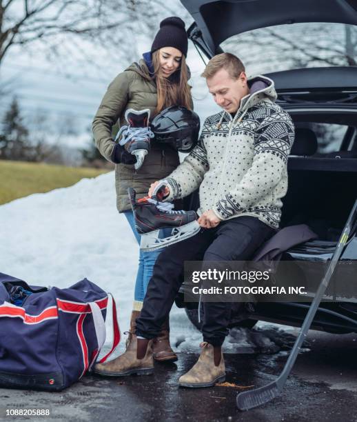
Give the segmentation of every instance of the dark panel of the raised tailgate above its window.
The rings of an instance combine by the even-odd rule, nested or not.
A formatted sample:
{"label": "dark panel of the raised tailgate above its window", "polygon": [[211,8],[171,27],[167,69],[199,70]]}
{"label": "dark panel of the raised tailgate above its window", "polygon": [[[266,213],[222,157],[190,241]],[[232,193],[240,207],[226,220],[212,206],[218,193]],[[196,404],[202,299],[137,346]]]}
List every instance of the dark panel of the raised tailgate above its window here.
{"label": "dark panel of the raised tailgate above its window", "polygon": [[357,25],[356,0],[181,0],[213,54],[236,34],[303,22]]}

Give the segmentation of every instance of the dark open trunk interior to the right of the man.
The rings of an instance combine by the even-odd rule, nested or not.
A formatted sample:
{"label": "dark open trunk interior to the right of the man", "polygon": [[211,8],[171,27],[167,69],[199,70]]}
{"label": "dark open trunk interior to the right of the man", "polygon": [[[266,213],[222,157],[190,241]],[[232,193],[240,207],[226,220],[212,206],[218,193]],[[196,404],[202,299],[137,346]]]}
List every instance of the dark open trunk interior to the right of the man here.
{"label": "dark open trunk interior to the right of the man", "polygon": [[319,241],[338,241],[357,197],[357,159],[289,157],[288,175],[281,227],[305,223]]}

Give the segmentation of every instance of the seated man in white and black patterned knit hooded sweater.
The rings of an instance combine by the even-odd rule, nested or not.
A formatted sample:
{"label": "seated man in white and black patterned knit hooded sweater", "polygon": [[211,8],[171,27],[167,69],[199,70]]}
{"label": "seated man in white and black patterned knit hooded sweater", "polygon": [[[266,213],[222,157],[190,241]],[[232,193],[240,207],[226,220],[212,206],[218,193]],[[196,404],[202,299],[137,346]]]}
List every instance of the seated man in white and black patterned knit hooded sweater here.
{"label": "seated man in white and black patterned knit hooded sweater", "polygon": [[[96,365],[99,374],[154,370],[150,340],[159,334],[174,303],[184,261],[247,261],[278,228],[294,125],[274,103],[274,83],[261,76],[247,79],[243,63],[230,53],[213,57],[202,76],[223,112],[205,120],[196,148],[165,179],[164,194],[172,201],[199,187],[198,223],[205,230],[161,252],[136,319],[136,343],[114,361]],[[179,379],[184,387],[208,387],[225,379],[221,345],[230,303],[205,302],[203,310],[201,355]]]}

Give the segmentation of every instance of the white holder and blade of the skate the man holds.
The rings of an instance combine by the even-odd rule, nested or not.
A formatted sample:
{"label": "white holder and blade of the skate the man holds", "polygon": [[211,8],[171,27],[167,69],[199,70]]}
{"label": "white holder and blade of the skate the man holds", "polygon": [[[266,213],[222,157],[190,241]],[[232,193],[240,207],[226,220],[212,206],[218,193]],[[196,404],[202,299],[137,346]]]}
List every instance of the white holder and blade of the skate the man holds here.
{"label": "white holder and blade of the skate the man holds", "polygon": [[201,230],[201,226],[197,221],[192,221],[182,227],[175,227],[169,237],[159,239],[159,231],[141,234],[140,249],[145,251],[157,250],[165,248],[168,245],[174,245],[174,243],[181,242],[185,239],[189,239]]}

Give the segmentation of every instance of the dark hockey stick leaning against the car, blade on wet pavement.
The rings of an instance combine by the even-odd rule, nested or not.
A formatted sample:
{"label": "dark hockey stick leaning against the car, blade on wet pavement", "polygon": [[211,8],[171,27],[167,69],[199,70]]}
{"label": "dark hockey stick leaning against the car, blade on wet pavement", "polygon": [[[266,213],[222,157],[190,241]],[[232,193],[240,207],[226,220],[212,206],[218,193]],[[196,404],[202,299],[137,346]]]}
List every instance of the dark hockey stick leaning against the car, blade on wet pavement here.
{"label": "dark hockey stick leaning against the car, blade on wet pavement", "polygon": [[323,299],[323,294],[327,289],[327,285],[329,285],[329,281],[331,280],[332,274],[334,273],[336,264],[343,252],[343,248],[345,247],[345,243],[347,242],[351,232],[351,222],[354,220],[354,217],[357,217],[355,216],[356,210],[357,199],[354,203],[354,207],[352,208],[351,213],[349,214],[345,228],[343,229],[343,232],[340,236],[329,266],[327,267],[325,277],[323,277],[323,281],[321,281],[318,287],[314,300],[312,301],[312,304],[309,308],[309,312],[307,312],[307,315],[305,316],[300,333],[298,334],[298,338],[296,339],[294,347],[292,348],[289,359],[287,359],[287,362],[285,363],[283,372],[281,372],[278,378],[272,383],[263,385],[263,387],[260,388],[255,388],[254,390],[248,390],[239,393],[236,397],[236,404],[239,410],[249,410],[256,408],[259,405],[263,405],[264,403],[274,399],[283,390],[287,377],[289,376],[289,373],[296,361],[296,357],[298,356],[301,345],[303,344],[303,341],[307,336],[307,332],[309,331],[310,325],[312,324],[312,320],[314,319],[318,305],[320,305],[320,301]]}

